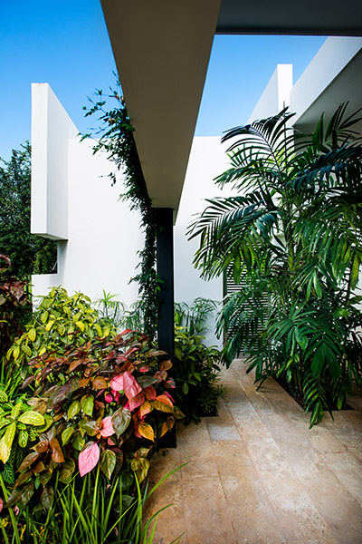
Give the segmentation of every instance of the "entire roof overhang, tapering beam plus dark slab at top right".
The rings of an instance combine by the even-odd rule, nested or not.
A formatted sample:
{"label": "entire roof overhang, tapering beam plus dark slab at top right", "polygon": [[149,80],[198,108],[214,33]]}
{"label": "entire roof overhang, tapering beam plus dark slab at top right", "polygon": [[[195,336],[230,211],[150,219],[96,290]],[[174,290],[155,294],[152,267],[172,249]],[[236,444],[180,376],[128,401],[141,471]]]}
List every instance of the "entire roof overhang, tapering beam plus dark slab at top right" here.
{"label": "entire roof overhang, tapering beam plus dark slab at top right", "polygon": [[[101,0],[148,194],[177,209],[214,33],[362,35],[360,0]],[[220,14],[219,14],[220,12]]]}

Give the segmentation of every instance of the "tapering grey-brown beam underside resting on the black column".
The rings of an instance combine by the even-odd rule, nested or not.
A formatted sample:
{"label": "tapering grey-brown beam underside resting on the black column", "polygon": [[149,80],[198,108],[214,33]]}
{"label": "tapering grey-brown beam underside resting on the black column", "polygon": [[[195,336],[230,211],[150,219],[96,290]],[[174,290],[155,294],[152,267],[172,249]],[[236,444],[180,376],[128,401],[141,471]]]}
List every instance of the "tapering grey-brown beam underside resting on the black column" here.
{"label": "tapering grey-brown beam underside resting on the black column", "polygon": [[178,208],[220,0],[102,0],[156,208]]}

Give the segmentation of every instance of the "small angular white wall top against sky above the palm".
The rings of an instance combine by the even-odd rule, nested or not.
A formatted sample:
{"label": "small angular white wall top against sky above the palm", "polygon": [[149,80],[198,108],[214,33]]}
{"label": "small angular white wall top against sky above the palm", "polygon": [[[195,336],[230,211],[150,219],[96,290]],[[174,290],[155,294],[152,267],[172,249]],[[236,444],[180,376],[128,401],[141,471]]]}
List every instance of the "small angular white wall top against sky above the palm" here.
{"label": "small angular white wall top against sky above the palm", "polygon": [[265,119],[281,112],[285,106],[289,106],[292,84],[292,65],[278,64],[247,122]]}

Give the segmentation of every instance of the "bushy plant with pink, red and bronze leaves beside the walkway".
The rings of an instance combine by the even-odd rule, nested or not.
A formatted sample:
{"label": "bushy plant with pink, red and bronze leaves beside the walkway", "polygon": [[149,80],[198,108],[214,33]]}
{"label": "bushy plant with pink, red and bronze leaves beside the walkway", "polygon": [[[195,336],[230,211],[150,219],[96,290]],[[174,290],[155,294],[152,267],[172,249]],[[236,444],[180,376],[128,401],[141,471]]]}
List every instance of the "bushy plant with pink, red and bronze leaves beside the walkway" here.
{"label": "bushy plant with pink, red and bronze leaves beside the walkway", "polygon": [[126,330],[110,339],[93,338],[68,346],[64,355],[44,353],[29,363],[33,411],[52,418],[19,467],[7,505],[52,496],[52,480],[71,481],[100,464],[110,479],[125,467],[142,481],[157,439],[183,417],[170,394],[172,364],[145,335]]}

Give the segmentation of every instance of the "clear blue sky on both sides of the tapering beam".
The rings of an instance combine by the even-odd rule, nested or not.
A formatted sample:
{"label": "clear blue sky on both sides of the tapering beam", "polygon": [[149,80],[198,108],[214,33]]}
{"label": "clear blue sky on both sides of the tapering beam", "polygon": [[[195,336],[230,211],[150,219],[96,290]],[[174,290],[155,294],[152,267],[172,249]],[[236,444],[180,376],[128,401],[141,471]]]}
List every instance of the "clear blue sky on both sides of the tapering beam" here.
{"label": "clear blue sky on both sides of the tapering beam", "polygon": [[[215,36],[196,135],[242,124],[277,63],[293,63],[296,81],[324,37]],[[49,83],[81,132],[82,106],[114,83],[100,0],[0,0],[0,157],[31,136],[31,83]]]}

